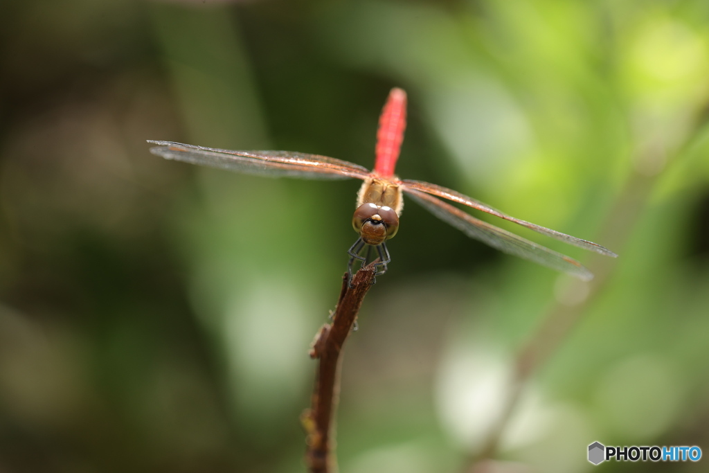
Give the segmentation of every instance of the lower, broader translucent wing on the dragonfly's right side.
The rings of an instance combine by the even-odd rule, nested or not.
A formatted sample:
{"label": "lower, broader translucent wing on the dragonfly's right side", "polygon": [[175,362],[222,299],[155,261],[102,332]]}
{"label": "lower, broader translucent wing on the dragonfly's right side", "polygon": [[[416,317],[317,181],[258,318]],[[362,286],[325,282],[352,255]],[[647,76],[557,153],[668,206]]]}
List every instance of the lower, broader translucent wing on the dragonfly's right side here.
{"label": "lower, broader translucent wing on the dragonfly's right side", "polygon": [[530,240],[526,240],[502,228],[497,228],[490,223],[478,220],[469,213],[424,192],[414,190],[411,187],[405,187],[403,191],[430,213],[461,230],[470,238],[480,240],[510,255],[523,257],[525,260],[569,273],[584,281],[593,279],[593,274],[586,267],[568,256],[549,250],[549,248],[542,245],[537,245]]}

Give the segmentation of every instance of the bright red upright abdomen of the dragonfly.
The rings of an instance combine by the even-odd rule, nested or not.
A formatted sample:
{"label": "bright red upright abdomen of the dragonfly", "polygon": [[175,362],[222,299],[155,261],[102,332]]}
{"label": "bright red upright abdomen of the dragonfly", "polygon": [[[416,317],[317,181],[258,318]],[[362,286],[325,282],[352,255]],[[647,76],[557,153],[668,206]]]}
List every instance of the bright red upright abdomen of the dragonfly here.
{"label": "bright red upright abdomen of the dragonfly", "polygon": [[379,117],[379,130],[376,132],[374,172],[379,176],[393,176],[405,129],[406,92],[395,87],[389,92],[389,99],[386,100]]}

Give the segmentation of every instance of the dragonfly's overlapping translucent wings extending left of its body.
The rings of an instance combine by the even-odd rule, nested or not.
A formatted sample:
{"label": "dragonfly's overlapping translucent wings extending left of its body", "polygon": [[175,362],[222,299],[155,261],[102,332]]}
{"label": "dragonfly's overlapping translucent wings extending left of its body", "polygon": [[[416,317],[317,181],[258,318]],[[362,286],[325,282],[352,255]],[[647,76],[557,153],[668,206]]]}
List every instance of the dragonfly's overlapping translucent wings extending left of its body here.
{"label": "dragonfly's overlapping translucent wings extending left of its body", "polygon": [[172,141],[148,140],[157,146],[154,155],[167,160],[191,162],[194,165],[218,167],[244,174],[303,179],[367,179],[369,170],[334,157],[308,155],[291,151],[231,151],[203,146],[183,145]]}

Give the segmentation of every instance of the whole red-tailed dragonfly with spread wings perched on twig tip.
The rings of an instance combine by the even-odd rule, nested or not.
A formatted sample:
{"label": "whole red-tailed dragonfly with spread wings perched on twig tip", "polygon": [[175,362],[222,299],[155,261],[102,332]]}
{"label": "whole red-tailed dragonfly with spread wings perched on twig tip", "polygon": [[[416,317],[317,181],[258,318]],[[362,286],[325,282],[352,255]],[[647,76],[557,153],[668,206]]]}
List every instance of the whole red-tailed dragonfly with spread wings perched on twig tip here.
{"label": "whole red-tailed dragonfly with spread wings perched on twig tip", "polygon": [[591,250],[601,255],[618,256],[597,243],[509,216],[452,189],[429,182],[399,179],[394,174],[394,169],[406,129],[406,100],[406,92],[403,89],[398,87],[391,89],[379,117],[373,171],[334,157],[311,155],[304,152],[233,151],[157,140],[148,140],[148,143],[156,145],[150,148],[152,154],[168,160],[228,169],[245,174],[304,179],[361,179],[363,181],[362,187],[359,188],[357,205],[352,216],[352,226],[359,234],[359,238],[347,251],[350,255],[347,264],[350,279],[354,260],[358,260],[362,266],[365,265],[369,260],[372,248],[376,250],[378,255],[377,260],[374,261],[377,269],[376,275],[386,272],[389,263],[391,263],[386,241],[393,238],[398,232],[399,217],[403,210],[403,194],[411,197],[413,201],[426,208],[434,216],[461,230],[470,238],[510,255],[571,274],[584,281],[592,279],[593,274],[580,262],[503,228],[498,228],[491,223],[479,220],[447,201],[517,223],[569,245]]}

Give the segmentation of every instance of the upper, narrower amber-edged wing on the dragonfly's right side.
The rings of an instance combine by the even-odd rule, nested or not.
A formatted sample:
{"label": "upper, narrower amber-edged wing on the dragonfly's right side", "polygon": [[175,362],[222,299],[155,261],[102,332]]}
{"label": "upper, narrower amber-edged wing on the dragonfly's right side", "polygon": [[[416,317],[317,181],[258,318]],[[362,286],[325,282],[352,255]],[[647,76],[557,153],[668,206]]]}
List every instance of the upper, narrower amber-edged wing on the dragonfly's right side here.
{"label": "upper, narrower amber-edged wing on the dragonfly's right side", "polygon": [[542,235],[547,235],[552,238],[556,238],[557,240],[561,240],[564,243],[569,243],[569,245],[578,246],[584,248],[585,250],[595,251],[597,253],[601,253],[601,255],[606,255],[614,258],[618,257],[618,255],[616,255],[614,252],[608,250],[608,248],[606,247],[598,245],[597,243],[593,243],[588,240],[581,240],[581,238],[572,237],[571,235],[566,235],[566,233],[557,232],[557,230],[542,227],[540,225],[537,225],[536,223],[530,223],[524,220],[520,220],[519,218],[514,218],[513,216],[509,216],[506,213],[498,211],[496,208],[492,208],[487,204],[483,204],[481,201],[477,201],[472,197],[460,194],[459,192],[454,191],[452,189],[446,189],[445,187],[437,186],[436,184],[430,184],[428,182],[421,181],[404,180],[401,181],[401,183],[403,184],[404,190],[412,189],[415,191],[425,192],[427,194],[442,197],[443,199],[448,199],[450,201],[458,202],[459,204],[464,204],[469,207],[476,208],[477,210],[484,211],[496,217],[504,218],[505,220],[508,220],[510,222],[518,223],[519,225],[527,227],[530,230],[534,230],[537,233],[541,233]]}

